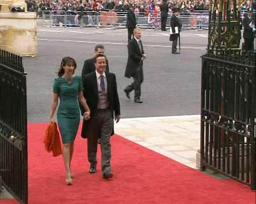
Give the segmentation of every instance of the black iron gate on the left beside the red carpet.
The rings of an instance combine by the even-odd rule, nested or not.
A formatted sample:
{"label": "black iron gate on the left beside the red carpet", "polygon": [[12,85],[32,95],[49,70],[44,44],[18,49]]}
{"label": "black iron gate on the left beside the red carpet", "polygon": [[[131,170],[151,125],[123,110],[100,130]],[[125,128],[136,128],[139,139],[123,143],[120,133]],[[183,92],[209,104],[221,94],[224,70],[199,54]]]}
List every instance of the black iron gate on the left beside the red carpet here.
{"label": "black iron gate on the left beside the red carpet", "polygon": [[0,177],[20,203],[27,203],[27,91],[20,56],[0,50]]}

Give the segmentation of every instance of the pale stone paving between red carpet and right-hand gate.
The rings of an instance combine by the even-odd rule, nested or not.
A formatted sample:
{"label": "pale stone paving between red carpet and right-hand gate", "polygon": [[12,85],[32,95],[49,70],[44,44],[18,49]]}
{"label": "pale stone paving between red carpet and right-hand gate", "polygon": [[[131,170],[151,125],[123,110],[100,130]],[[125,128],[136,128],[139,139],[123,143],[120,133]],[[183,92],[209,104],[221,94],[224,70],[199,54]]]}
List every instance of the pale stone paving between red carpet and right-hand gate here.
{"label": "pale stone paving between red carpet and right-hand gate", "polygon": [[200,115],[129,118],[120,120],[115,133],[175,161],[196,168],[200,149]]}

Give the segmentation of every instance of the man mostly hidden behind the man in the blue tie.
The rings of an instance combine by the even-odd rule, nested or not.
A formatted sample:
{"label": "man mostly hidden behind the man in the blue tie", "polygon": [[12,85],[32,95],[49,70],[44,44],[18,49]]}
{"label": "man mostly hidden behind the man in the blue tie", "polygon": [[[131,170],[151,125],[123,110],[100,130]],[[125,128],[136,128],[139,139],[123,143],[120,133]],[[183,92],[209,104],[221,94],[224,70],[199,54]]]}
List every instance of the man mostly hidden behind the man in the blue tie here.
{"label": "man mostly hidden behind the man in the blue tie", "polygon": [[[97,54],[104,54],[105,49],[102,44],[97,44],[94,48],[94,56]],[[94,58],[90,58],[84,61],[82,76],[95,71]],[[106,71],[109,72],[108,59],[106,60]]]}

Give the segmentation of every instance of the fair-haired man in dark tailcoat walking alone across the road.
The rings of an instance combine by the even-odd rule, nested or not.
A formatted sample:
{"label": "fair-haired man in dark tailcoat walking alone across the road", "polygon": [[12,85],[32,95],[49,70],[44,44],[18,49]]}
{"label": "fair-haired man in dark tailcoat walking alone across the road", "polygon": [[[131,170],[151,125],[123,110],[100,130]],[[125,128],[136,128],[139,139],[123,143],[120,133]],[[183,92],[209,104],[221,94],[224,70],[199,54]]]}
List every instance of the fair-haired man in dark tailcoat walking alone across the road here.
{"label": "fair-haired man in dark tailcoat walking alone across the road", "polygon": [[129,93],[134,90],[134,102],[142,103],[140,100],[140,85],[143,82],[143,60],[146,59],[144,54],[141,38],[140,28],[133,30],[133,39],[128,43],[128,60],[126,64],[124,76],[133,78],[133,83],[128,85],[124,92],[127,98],[130,98]]}

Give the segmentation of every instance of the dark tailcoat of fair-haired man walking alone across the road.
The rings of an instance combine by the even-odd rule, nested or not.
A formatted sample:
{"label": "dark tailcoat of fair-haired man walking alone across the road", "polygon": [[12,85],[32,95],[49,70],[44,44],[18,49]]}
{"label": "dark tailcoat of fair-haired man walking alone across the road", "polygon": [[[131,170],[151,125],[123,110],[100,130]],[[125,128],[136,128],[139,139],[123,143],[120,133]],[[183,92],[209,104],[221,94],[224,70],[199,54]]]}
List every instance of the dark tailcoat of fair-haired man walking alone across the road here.
{"label": "dark tailcoat of fair-haired man walking alone across the road", "polygon": [[126,69],[124,76],[127,78],[130,78],[133,76],[138,70],[139,66],[142,66],[142,54],[144,54],[143,46],[142,47],[142,52],[140,52],[140,47],[137,41],[132,38],[129,43],[128,43],[128,60],[126,64]]}

